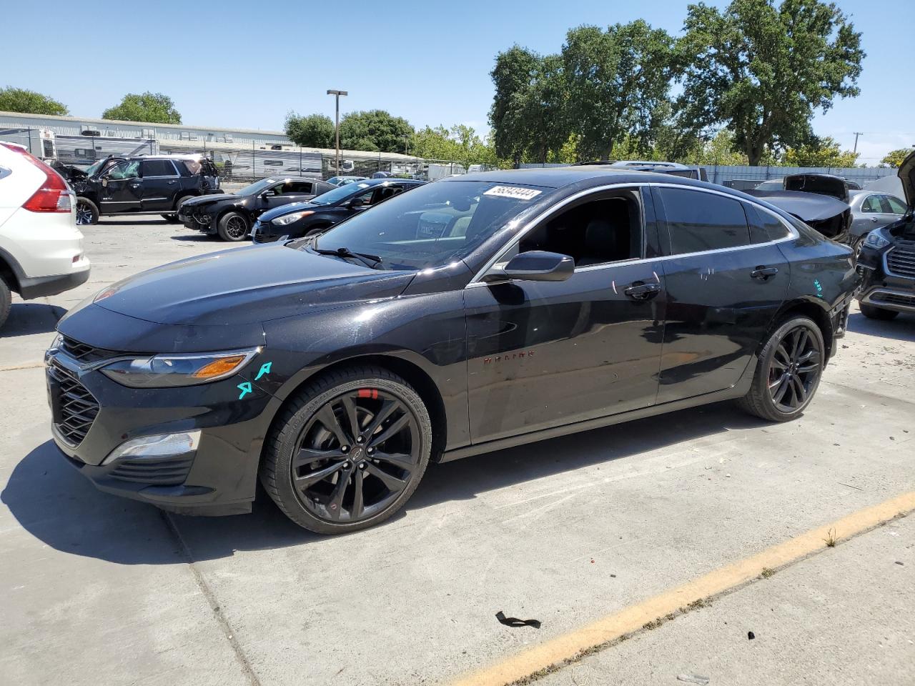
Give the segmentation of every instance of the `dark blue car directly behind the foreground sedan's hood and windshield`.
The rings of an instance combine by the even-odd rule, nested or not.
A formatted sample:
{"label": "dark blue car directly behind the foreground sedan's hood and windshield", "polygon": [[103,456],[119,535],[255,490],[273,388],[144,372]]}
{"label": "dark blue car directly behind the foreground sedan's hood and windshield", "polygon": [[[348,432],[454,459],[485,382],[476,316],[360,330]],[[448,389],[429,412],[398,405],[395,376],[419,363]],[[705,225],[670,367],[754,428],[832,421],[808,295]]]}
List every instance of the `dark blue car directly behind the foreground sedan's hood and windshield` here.
{"label": "dark blue car directly behind the foreground sedan's hood and windshield", "polygon": [[424,183],[412,178],[376,178],[337,187],[310,202],[296,202],[264,212],[254,224],[251,239],[255,243],[271,243],[283,237],[298,238],[322,233],[382,200]]}

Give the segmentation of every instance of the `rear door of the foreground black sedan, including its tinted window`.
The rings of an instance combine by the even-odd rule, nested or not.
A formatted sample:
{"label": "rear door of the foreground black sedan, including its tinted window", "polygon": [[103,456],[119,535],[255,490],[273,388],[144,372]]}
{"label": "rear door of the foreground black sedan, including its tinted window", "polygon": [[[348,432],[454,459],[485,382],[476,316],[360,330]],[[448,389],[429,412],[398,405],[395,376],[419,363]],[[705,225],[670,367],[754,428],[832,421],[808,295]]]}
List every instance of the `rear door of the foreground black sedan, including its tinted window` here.
{"label": "rear door of the foreground black sedan, including its tinted window", "polygon": [[737,198],[662,185],[652,188],[652,195],[666,255],[662,403],[737,383],[788,292],[789,269],[768,235],[751,239]]}

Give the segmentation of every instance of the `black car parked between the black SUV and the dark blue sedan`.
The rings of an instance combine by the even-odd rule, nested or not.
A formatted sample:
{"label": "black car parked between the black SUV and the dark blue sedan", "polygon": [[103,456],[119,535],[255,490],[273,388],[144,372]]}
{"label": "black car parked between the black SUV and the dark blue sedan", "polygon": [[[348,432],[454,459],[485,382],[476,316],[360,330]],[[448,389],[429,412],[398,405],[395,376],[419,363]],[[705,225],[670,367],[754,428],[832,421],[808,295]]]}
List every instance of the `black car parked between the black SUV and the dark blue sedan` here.
{"label": "black car parked between the black SUV and the dark blue sedan", "polygon": [[187,229],[218,235],[223,241],[243,241],[263,212],[333,188],[317,178],[262,178],[235,193],[188,200],[178,220]]}

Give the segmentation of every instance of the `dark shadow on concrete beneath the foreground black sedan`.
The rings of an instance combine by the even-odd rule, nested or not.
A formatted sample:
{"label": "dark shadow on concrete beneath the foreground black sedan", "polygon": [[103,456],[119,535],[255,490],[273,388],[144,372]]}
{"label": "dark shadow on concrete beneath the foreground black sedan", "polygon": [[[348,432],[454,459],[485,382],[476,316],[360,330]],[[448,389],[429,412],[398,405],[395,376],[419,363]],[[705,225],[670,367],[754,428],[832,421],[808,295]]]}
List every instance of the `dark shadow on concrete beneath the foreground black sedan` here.
{"label": "dark shadow on concrete beneath the foreground black sedan", "polygon": [[[642,419],[574,434],[573,440],[554,438],[430,465],[405,511],[415,512],[449,500],[469,500],[497,488],[707,435],[764,425],[732,403],[717,403],[671,413],[662,421]],[[325,538],[287,520],[263,491],[251,514],[218,518],[166,515],[151,505],[102,493],[70,466],[49,440],[16,465],[0,501],[26,531],[51,548],[119,564],[185,563],[186,544],[190,557],[200,561]],[[404,513],[388,523],[400,520]],[[422,517],[422,512],[414,516]],[[180,541],[173,526],[180,533]]]}

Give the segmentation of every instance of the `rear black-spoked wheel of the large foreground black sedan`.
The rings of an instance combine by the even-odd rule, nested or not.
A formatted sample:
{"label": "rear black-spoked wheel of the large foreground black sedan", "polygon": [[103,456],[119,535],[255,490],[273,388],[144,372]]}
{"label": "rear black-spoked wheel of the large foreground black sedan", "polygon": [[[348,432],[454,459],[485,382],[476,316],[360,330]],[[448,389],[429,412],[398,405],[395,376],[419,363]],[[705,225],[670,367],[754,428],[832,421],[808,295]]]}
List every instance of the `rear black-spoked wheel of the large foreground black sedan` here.
{"label": "rear black-spoked wheel of the large foreground black sedan", "polygon": [[791,421],[813,400],[825,350],[823,332],[813,319],[792,316],[783,321],[763,346],[750,389],[737,404],[770,422]]}

